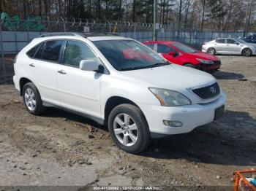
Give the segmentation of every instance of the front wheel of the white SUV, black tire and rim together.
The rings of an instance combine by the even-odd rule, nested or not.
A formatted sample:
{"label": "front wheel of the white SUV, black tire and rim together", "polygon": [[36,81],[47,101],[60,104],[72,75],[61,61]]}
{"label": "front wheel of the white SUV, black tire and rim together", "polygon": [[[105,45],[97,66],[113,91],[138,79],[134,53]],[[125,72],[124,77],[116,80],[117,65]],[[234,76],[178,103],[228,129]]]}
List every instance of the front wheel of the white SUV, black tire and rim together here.
{"label": "front wheel of the white SUV, black tire and rim together", "polygon": [[142,152],[151,143],[143,112],[131,104],[118,105],[110,112],[108,130],[116,146],[125,152]]}

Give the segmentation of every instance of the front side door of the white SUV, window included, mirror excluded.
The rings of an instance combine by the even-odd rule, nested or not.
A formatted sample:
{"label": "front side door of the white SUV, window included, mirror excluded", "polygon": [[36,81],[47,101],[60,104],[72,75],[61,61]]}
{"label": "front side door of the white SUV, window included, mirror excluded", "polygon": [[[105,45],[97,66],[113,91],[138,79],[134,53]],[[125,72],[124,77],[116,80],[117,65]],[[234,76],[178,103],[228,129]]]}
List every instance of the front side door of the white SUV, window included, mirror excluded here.
{"label": "front side door of the white SUV, window included, mirror excluded", "polygon": [[85,42],[68,40],[57,72],[61,106],[83,114],[100,117],[100,82],[102,74],[83,71],[80,61],[99,59]]}

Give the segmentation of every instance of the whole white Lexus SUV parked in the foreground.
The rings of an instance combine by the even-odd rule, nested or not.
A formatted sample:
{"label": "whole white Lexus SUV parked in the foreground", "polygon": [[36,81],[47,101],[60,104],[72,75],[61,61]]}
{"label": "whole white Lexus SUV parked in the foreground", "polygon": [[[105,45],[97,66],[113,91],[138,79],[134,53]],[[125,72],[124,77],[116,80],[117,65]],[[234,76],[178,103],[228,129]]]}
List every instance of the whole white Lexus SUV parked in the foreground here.
{"label": "whole white Lexus SUV parked in the foreground", "polygon": [[56,106],[89,117],[108,125],[126,152],[188,133],[225,111],[226,95],[211,74],[171,64],[121,36],[43,35],[14,66],[15,87],[31,114]]}

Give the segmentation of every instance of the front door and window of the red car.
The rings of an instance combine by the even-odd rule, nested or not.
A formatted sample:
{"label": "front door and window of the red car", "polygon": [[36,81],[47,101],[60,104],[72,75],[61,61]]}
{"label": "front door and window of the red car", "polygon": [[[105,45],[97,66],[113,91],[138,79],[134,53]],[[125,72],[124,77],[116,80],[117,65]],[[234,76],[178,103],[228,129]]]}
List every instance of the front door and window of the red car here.
{"label": "front door and window of the red car", "polygon": [[[176,52],[176,55],[170,55],[171,51]],[[161,54],[165,59],[170,61],[171,63],[178,63],[178,52],[166,44],[157,44],[157,53]]]}

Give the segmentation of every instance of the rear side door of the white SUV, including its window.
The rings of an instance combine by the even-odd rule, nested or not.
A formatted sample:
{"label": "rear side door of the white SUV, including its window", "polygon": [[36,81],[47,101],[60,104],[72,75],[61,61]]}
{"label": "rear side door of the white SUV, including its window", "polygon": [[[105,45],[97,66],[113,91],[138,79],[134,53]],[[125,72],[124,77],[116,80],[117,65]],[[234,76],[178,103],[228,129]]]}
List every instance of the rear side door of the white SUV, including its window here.
{"label": "rear side door of the white SUV, including its window", "polygon": [[59,66],[59,53],[64,40],[42,42],[34,58],[30,60],[33,82],[37,86],[42,101],[59,104],[56,71]]}

